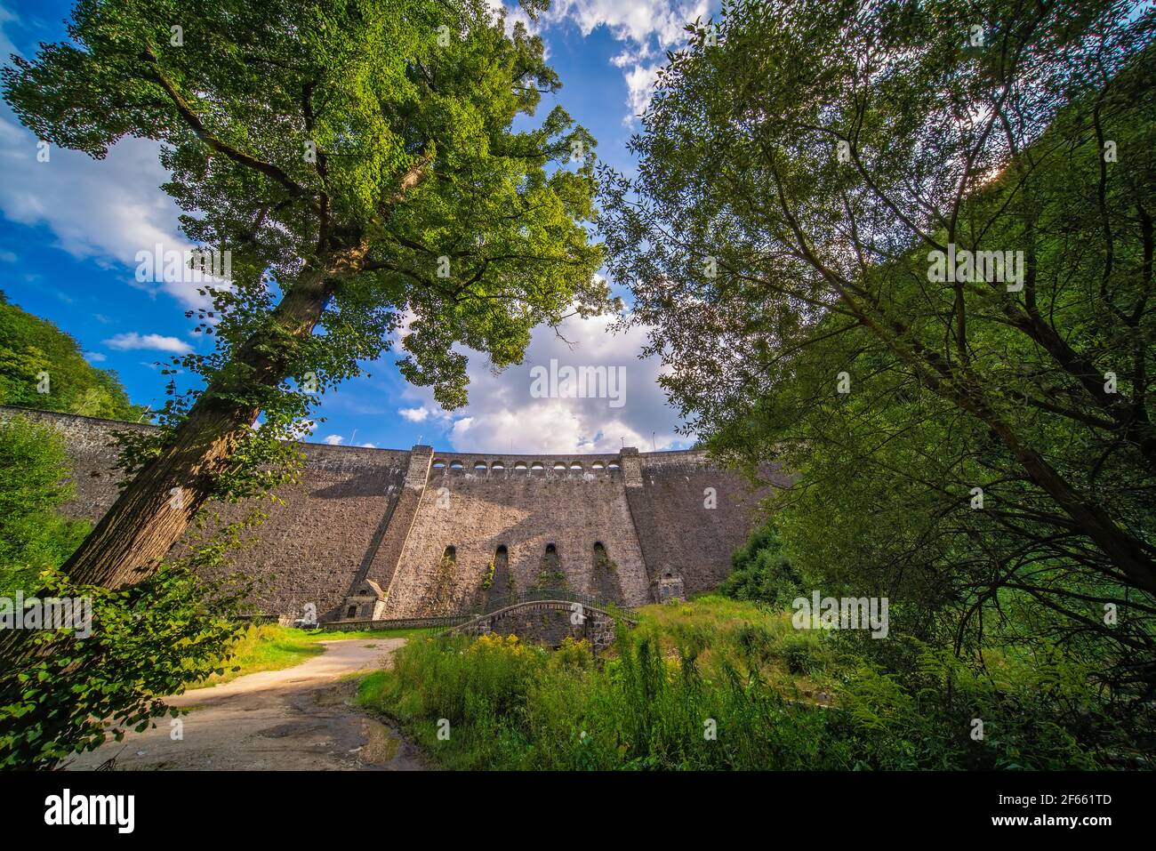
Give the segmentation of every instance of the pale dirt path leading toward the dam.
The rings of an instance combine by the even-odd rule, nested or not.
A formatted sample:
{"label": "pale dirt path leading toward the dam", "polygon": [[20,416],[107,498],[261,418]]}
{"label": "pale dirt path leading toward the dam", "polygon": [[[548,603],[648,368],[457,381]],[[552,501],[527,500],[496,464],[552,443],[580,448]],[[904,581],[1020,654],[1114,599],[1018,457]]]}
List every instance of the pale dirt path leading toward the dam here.
{"label": "pale dirt path leading toward the dam", "polygon": [[262,671],[166,703],[186,706],[183,738],[169,718],[77,755],[73,770],[116,756],[117,770],[421,770],[417,750],[350,705],[356,671],[387,667],[403,638],[321,642],[325,652],[283,671]]}

